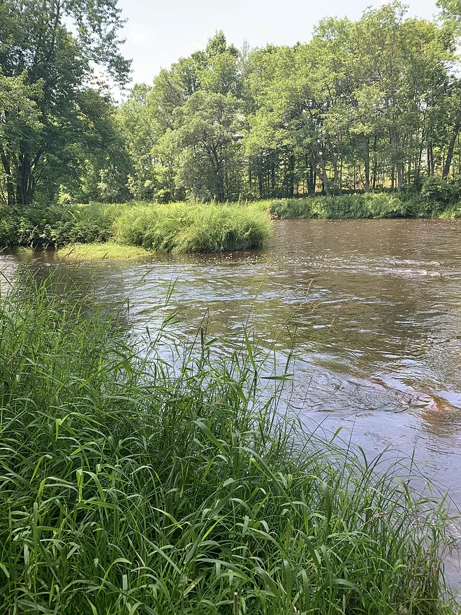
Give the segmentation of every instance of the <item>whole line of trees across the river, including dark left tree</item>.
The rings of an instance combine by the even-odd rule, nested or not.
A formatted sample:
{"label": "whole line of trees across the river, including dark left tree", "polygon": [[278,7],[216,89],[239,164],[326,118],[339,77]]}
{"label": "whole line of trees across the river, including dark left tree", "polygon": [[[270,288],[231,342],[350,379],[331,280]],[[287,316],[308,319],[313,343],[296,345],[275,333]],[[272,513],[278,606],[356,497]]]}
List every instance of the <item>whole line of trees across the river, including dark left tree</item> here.
{"label": "whole line of trees across the river, including dark left tree", "polygon": [[[395,190],[461,196],[459,2],[438,20],[398,2],[323,20],[307,44],[203,51],[126,82],[114,0],[5,0],[0,19],[4,203],[291,198]],[[77,38],[65,18],[78,25]],[[98,24],[103,24],[98,27]]]}

